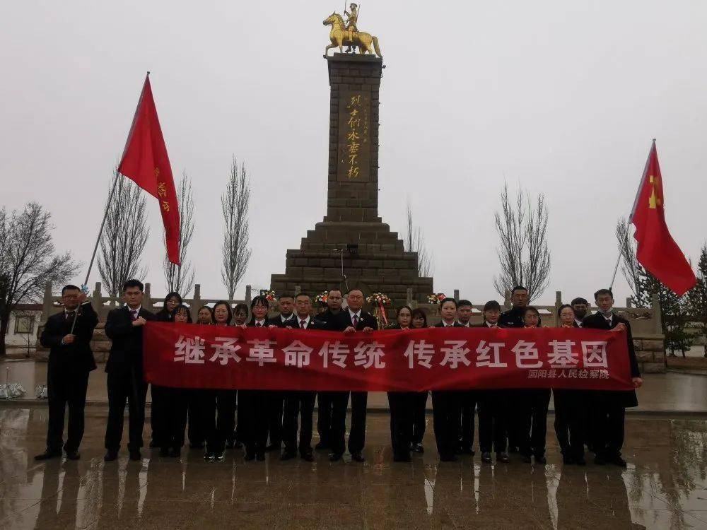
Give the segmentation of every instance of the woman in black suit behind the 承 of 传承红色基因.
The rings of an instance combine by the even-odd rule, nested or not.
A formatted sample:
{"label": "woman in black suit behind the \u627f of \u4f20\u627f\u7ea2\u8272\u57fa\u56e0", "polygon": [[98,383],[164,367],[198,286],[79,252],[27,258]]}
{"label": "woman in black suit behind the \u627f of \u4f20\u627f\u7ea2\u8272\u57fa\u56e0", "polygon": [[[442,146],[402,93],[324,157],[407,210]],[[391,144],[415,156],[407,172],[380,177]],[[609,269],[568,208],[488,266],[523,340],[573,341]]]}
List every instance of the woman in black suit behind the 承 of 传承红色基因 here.
{"label": "woman in black suit behind the \u627f of \u4f20\u627f\u7ea2\u8272\u57fa\u56e0", "polygon": [[[442,322],[436,328],[464,327],[456,320],[457,300],[445,298],[440,304]],[[443,462],[457,460],[455,452],[459,442],[459,420],[462,406],[462,391],[433,390],[432,420],[435,428],[437,452]]]}

